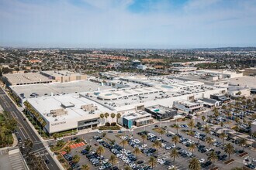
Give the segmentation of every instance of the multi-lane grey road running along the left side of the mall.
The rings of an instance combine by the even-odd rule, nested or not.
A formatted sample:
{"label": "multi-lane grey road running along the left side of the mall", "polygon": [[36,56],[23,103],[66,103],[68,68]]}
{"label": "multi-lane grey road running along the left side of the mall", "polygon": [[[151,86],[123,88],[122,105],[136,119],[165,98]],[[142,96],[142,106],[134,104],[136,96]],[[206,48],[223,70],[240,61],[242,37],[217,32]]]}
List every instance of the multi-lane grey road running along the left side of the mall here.
{"label": "multi-lane grey road running along the left side of the mall", "polygon": [[12,103],[12,100],[5,94],[2,87],[0,88],[0,104],[3,110],[9,111],[12,117],[14,117],[18,122],[17,131],[19,132],[19,136],[22,138],[22,141],[25,141],[26,138],[30,138],[31,141],[33,141],[33,150],[31,153],[41,156],[43,160],[48,159],[49,164],[46,164],[48,169],[60,169],[58,168],[56,162],[54,162],[54,159],[50,156],[50,153],[44,147],[42,141],[40,141],[40,138],[38,138],[33,129],[29,126],[28,122],[24,121],[22,113],[16,108],[16,105]]}

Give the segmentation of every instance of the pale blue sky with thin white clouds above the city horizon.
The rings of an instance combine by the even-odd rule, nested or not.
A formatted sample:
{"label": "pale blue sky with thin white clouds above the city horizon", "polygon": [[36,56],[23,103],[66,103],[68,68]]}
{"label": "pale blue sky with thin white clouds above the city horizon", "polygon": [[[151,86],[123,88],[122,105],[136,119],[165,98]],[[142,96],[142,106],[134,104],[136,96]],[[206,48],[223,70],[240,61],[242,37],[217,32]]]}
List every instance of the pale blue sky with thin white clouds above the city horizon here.
{"label": "pale blue sky with thin white clouds above the city horizon", "polygon": [[0,46],[256,46],[256,0],[0,0]]}

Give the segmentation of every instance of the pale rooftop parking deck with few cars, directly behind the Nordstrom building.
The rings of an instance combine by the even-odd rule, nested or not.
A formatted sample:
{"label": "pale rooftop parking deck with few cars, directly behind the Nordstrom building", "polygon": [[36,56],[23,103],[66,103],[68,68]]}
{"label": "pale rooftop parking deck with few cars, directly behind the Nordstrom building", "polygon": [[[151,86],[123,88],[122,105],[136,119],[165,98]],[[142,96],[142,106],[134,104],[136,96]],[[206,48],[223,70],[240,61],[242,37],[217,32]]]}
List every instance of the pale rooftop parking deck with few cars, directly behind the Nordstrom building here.
{"label": "pale rooftop parking deck with few cars, directly behind the Nordstrom building", "polygon": [[17,95],[24,93],[24,98],[33,98],[30,95],[37,93],[37,97],[50,96],[51,93],[54,95],[61,95],[64,93],[81,93],[95,90],[108,90],[112,89],[109,86],[102,86],[100,83],[94,83],[89,80],[78,80],[67,83],[40,83],[40,84],[29,84],[20,86],[10,86]]}

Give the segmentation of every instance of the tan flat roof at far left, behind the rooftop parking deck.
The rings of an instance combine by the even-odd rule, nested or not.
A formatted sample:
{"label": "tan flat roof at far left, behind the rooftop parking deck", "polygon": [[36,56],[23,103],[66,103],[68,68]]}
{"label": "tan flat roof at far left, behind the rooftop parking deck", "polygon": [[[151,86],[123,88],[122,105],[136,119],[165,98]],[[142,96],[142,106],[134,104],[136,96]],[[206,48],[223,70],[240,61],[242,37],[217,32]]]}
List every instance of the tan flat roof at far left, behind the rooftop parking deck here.
{"label": "tan flat roof at far left, behind the rooftop parking deck", "polygon": [[12,84],[53,81],[47,76],[43,76],[40,73],[9,73],[4,74],[3,76],[5,76]]}

